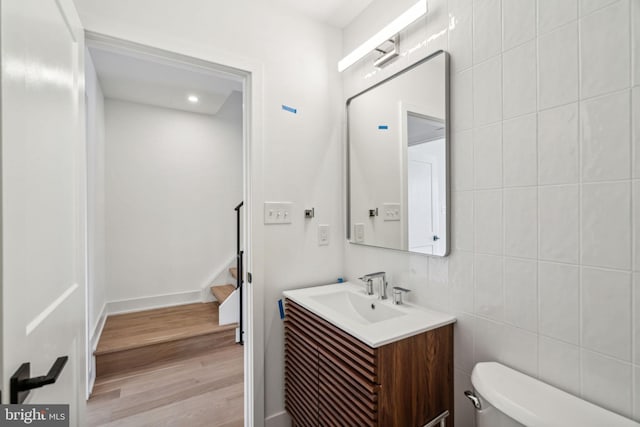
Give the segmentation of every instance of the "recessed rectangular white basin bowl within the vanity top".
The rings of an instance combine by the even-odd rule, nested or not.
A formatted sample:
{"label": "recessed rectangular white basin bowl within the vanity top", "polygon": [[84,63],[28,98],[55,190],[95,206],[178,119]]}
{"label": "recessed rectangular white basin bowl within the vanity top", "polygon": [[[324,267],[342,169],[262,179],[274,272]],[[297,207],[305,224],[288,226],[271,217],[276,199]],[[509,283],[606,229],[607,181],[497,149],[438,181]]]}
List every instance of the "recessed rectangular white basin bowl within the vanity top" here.
{"label": "recessed rectangular white basin bowl within the vanity top", "polygon": [[311,298],[330,309],[352,316],[355,321],[364,324],[377,323],[407,314],[388,305],[378,304],[377,301],[371,301],[371,298],[366,298],[364,295],[346,290],[316,295]]}

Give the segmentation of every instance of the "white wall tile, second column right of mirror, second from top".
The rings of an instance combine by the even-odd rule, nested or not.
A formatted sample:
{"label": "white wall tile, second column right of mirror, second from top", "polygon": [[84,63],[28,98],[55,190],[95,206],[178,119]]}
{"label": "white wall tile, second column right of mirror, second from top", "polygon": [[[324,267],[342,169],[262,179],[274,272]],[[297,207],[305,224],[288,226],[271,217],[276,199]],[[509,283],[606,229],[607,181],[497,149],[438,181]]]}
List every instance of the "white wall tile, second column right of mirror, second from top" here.
{"label": "white wall tile, second column right of mirror, second from top", "polygon": [[473,67],[473,125],[502,120],[502,57]]}

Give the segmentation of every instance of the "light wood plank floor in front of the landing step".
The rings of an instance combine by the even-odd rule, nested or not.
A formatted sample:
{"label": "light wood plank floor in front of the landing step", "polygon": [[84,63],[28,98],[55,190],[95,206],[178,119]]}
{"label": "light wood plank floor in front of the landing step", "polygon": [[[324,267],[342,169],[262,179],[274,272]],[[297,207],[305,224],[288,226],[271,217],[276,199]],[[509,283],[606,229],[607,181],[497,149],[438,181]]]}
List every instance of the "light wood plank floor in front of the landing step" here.
{"label": "light wood plank floor in front of the landing step", "polygon": [[89,426],[242,427],[243,347],[96,380]]}

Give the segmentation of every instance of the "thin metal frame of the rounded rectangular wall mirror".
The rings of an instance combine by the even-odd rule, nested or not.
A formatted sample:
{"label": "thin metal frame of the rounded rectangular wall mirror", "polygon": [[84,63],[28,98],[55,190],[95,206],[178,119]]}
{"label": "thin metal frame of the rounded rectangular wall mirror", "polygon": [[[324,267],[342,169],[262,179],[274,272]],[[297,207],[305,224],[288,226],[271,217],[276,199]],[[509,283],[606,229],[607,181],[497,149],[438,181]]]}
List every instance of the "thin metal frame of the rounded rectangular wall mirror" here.
{"label": "thin metal frame of the rounded rectangular wall mirror", "polygon": [[[445,85],[445,95],[444,95],[444,111],[445,111],[445,119],[444,119],[444,123],[445,123],[445,160],[444,160],[444,167],[445,167],[445,199],[446,199],[446,214],[445,214],[445,220],[446,220],[446,226],[445,226],[445,230],[447,233],[447,240],[446,240],[446,244],[445,244],[445,250],[444,250],[444,254],[442,255],[433,255],[433,254],[424,254],[421,252],[411,252],[409,250],[405,250],[405,249],[397,249],[397,248],[390,248],[387,246],[376,246],[376,245],[367,245],[366,243],[356,243],[353,242],[351,240],[351,141],[349,140],[349,104],[351,104],[351,101],[353,101],[355,98],[357,98],[360,95],[363,95],[367,92],[372,91],[373,89],[377,88],[378,86],[381,86],[393,79],[395,79],[396,77],[399,77],[411,70],[413,70],[414,68],[419,67],[420,65],[424,64],[425,62],[428,62],[431,59],[434,59],[435,57],[437,57],[438,55],[444,55],[444,85]],[[352,245],[359,245],[359,246],[368,246],[368,247],[372,247],[372,248],[381,248],[381,249],[389,249],[392,251],[399,251],[399,252],[403,252],[403,253],[407,253],[407,254],[414,254],[414,255],[422,255],[422,256],[429,256],[429,257],[446,257],[451,253],[451,111],[450,111],[450,78],[449,78],[449,54],[447,53],[447,51],[445,50],[438,50],[436,52],[433,52],[432,54],[422,58],[421,60],[403,68],[402,70],[398,71],[397,73],[379,81],[378,83],[373,84],[372,86],[364,89],[361,92],[356,93],[355,95],[349,97],[347,99],[347,102],[345,104],[345,114],[346,114],[346,137],[345,137],[345,141],[346,141],[346,214],[347,214],[347,218],[346,218],[346,228],[347,228],[347,241],[352,244]]]}

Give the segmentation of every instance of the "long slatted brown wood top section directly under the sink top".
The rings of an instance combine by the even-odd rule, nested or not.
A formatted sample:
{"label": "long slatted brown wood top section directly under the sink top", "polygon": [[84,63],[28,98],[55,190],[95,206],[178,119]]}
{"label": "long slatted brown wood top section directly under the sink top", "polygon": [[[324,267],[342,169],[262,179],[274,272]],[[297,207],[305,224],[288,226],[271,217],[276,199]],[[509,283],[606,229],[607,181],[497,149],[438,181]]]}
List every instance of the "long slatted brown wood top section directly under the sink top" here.
{"label": "long slatted brown wood top section directly under the sink top", "polygon": [[305,325],[309,337],[328,358],[351,366],[368,382],[377,383],[377,349],[371,348],[304,307],[287,300],[287,317],[292,323]]}

